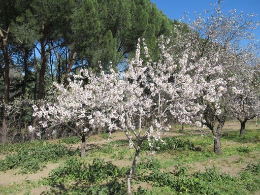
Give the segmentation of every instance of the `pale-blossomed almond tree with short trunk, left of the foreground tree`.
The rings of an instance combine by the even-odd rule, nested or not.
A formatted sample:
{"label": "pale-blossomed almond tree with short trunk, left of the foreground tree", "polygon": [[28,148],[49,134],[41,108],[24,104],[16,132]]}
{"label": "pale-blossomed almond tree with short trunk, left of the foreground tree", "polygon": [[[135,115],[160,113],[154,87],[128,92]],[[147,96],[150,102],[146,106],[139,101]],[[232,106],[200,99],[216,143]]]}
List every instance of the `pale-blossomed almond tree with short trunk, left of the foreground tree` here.
{"label": "pale-blossomed almond tree with short trunk, left of the foreground tree", "polygon": [[[85,156],[86,139],[97,128],[108,126],[112,131],[113,111],[109,109],[116,104],[115,97],[120,98],[122,93],[122,90],[115,87],[122,85],[119,84],[118,74],[115,72],[102,72],[97,76],[92,71],[82,70],[74,78],[67,87],[54,83],[55,99],[42,103],[40,107],[33,106],[34,116],[40,122],[37,127],[29,126],[28,129],[38,131],[40,135],[44,128],[52,128],[55,133],[58,129],[67,127],[81,138],[81,156]],[[75,126],[81,129],[81,133],[75,131]]]}

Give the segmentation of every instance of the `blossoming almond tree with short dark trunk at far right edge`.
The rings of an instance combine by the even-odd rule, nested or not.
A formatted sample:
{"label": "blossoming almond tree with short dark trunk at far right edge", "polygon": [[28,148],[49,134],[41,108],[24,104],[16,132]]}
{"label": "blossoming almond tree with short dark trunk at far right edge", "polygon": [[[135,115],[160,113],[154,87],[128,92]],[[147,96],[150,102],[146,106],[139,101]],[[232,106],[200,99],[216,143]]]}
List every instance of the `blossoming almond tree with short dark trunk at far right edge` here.
{"label": "blossoming almond tree with short dark trunk at far right edge", "polygon": [[[233,70],[233,87],[230,89],[229,107],[235,118],[240,121],[240,137],[245,135],[247,120],[260,114],[260,91],[255,54],[243,51],[237,55]],[[251,64],[251,62],[256,64]]]}

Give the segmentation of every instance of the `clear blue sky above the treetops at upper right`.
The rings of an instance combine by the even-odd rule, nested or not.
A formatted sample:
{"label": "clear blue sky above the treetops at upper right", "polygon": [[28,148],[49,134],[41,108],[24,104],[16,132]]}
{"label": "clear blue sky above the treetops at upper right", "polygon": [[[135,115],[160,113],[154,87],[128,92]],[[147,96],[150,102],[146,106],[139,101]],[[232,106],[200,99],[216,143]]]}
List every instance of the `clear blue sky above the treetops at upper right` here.
{"label": "clear blue sky above the treetops at upper right", "polygon": [[[194,12],[203,14],[204,9],[210,9],[210,4],[217,0],[151,0],[171,19],[180,20],[184,11],[189,13],[189,18],[194,19]],[[241,11],[249,13],[257,13],[255,20],[260,21],[260,0],[225,0],[222,4],[224,13],[231,9],[237,9],[237,13]],[[255,30],[257,39],[260,39],[260,26]]]}

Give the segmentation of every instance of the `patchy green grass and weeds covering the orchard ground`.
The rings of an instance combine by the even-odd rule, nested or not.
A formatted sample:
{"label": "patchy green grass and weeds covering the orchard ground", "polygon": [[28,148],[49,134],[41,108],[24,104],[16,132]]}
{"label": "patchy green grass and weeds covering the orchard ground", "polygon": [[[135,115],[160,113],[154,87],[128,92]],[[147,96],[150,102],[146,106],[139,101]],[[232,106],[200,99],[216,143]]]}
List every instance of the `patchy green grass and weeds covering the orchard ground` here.
{"label": "patchy green grass and weeds covering the orchard ground", "polygon": [[[234,125],[238,126],[237,123]],[[180,126],[175,128],[175,132],[178,132]],[[233,128],[230,122],[223,130],[220,156],[213,152],[212,136],[188,135],[190,129],[187,126],[185,134],[164,138],[166,145],[155,143],[154,155],[147,154],[149,148],[145,143],[133,177],[135,194],[256,193],[260,190],[260,129],[249,121],[245,137],[239,138],[239,131],[234,131]],[[106,139],[107,135],[102,135],[102,138]],[[44,194],[125,194],[125,174],[132,163],[135,150],[129,149],[127,140],[115,137],[102,144],[95,144],[95,141],[99,141],[96,136],[91,140],[95,147],[88,148],[86,157],[57,156],[55,160],[60,161],[60,166],[52,170],[48,177],[39,181],[14,183],[12,187],[0,185],[0,194],[30,194],[31,189],[42,185],[50,187]],[[71,145],[78,143],[78,140],[72,137],[58,142]],[[0,145],[0,153],[17,156],[24,153],[24,150],[46,150],[44,147],[47,143],[35,141]],[[54,148],[62,146],[53,145]],[[56,149],[48,149],[47,153],[52,156],[55,151]],[[54,158],[31,160],[26,155],[25,160],[40,160],[40,165],[45,165]],[[34,167],[33,164],[30,167]],[[15,168],[21,169],[21,166]],[[141,183],[144,187],[138,187]]]}

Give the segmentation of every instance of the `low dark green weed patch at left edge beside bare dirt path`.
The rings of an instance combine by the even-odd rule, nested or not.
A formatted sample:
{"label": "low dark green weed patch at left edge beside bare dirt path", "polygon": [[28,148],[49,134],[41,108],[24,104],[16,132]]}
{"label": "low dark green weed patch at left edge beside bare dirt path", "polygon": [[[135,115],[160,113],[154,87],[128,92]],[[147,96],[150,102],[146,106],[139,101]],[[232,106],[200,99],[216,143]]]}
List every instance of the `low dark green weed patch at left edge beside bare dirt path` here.
{"label": "low dark green weed patch at left edge beside bare dirt path", "polygon": [[43,163],[55,162],[66,156],[78,154],[60,144],[43,144],[33,148],[22,148],[17,154],[10,154],[0,160],[0,170],[21,168],[22,173],[37,172],[43,168]]}

